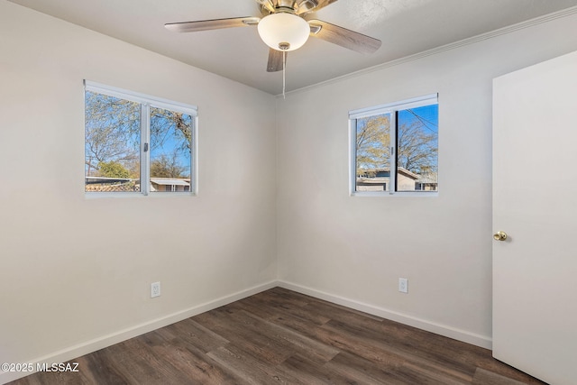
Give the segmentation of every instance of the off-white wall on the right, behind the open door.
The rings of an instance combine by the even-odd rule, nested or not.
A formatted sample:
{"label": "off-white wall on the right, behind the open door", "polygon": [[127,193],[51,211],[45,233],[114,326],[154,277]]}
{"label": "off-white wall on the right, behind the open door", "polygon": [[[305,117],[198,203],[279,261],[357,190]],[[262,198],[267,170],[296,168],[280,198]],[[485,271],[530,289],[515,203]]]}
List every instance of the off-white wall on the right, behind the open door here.
{"label": "off-white wall on the right, behind the open door", "polygon": [[[572,14],[279,99],[284,286],[490,347],[492,78],[577,50],[575,25]],[[349,197],[348,111],[437,92],[438,197]]]}

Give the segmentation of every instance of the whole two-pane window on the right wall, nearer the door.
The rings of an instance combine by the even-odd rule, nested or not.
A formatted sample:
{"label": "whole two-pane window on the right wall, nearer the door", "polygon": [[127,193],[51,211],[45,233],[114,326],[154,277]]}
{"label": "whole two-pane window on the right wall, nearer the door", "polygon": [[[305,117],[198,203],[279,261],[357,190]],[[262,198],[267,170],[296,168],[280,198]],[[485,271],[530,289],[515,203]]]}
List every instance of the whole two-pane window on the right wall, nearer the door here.
{"label": "whole two-pane window on the right wall, nearer the door", "polygon": [[351,111],[349,128],[352,195],[438,191],[436,94]]}

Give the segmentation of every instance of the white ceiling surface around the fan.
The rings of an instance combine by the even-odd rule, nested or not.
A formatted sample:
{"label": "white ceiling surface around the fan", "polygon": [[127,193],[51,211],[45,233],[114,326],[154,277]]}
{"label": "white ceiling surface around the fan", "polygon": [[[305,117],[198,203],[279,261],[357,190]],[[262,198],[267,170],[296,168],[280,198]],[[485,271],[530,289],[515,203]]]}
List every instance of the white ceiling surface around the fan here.
{"label": "white ceiling surface around the fan", "polygon": [[[269,49],[254,27],[176,33],[164,23],[260,16],[254,0],[10,0],[272,95],[282,73],[269,73]],[[397,60],[577,5],[577,0],[340,0],[316,18],[382,41],[361,54],[309,39],[289,52],[287,91]]]}

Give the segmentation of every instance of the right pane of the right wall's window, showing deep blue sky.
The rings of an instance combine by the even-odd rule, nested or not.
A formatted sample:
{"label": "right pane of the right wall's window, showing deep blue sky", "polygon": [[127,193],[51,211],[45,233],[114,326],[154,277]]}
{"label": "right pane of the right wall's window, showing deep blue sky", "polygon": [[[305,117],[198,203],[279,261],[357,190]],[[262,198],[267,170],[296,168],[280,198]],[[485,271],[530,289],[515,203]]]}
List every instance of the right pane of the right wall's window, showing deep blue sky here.
{"label": "right pane of the right wall's window, showing deep blue sky", "polygon": [[398,111],[397,191],[437,191],[438,105]]}

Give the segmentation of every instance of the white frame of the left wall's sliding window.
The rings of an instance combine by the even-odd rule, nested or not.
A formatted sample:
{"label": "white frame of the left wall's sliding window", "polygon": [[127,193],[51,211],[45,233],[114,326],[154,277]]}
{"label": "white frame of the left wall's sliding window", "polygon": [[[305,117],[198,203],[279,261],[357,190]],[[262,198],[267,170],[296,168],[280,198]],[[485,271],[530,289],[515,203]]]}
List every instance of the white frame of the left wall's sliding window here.
{"label": "white frame of the left wall's sliding window", "polygon": [[[84,95],[86,92],[94,92],[106,96],[114,96],[141,105],[141,191],[135,192],[94,192],[85,191],[86,197],[175,197],[175,196],[197,196],[198,194],[198,107],[185,103],[175,102],[157,96],[150,96],[135,91],[126,90],[119,87],[107,86],[94,81],[84,80]],[[172,191],[170,194],[151,194],[151,107],[166,109],[191,117],[191,142],[190,146],[190,190]],[[85,100],[86,112],[86,100]],[[86,121],[85,121],[86,127]],[[86,128],[85,128],[86,129]],[[86,146],[86,137],[85,137]],[[86,154],[85,154],[86,156]],[[85,172],[86,180],[86,172]],[[85,181],[86,184],[86,181]]]}

